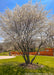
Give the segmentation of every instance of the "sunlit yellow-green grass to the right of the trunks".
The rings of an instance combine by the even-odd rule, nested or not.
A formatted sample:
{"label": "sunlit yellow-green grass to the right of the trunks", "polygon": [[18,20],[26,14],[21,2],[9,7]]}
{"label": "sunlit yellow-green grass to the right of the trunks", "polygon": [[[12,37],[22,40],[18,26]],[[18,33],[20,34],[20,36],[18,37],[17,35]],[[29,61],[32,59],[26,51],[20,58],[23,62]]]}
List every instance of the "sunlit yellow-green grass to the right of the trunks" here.
{"label": "sunlit yellow-green grass to the right of the trunks", "polygon": [[34,63],[36,62],[54,68],[54,56],[37,56],[34,60]]}

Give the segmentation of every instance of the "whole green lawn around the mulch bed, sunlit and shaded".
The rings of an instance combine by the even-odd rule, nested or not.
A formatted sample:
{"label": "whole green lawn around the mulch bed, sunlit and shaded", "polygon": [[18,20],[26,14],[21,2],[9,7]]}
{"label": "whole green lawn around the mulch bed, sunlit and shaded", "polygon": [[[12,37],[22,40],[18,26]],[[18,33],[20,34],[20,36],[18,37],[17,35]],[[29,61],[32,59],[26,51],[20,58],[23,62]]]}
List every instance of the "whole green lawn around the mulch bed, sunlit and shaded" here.
{"label": "whole green lawn around the mulch bed, sunlit and shaded", "polygon": [[[30,56],[32,59],[33,56]],[[0,75],[24,75],[25,73],[54,73],[54,57],[53,56],[37,56],[33,63],[45,65],[44,68],[26,69],[19,67],[20,63],[24,63],[22,56],[16,56],[12,59],[0,60]]]}

